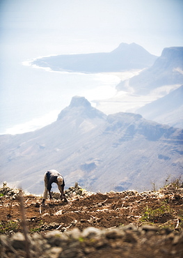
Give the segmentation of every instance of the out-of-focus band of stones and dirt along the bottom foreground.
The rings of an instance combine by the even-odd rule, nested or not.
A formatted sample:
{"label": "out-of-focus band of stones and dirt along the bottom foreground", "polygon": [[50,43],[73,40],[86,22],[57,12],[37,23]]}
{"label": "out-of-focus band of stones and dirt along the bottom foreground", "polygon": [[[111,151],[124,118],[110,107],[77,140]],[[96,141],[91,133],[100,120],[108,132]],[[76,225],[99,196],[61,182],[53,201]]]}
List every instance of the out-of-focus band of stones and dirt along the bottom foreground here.
{"label": "out-of-focus band of stones and dirt along the bottom foreground", "polygon": [[[141,234],[141,232],[152,232]],[[148,225],[134,227],[127,225],[113,229],[88,227],[83,231],[74,228],[65,233],[53,230],[47,234],[29,236],[32,257],[177,257],[183,251],[183,233],[171,232],[166,238],[159,234],[157,227]],[[167,239],[167,241],[166,241]],[[168,245],[167,245],[168,243]],[[11,247],[10,247],[11,246]],[[132,248],[133,246],[133,248]],[[25,238],[22,233],[0,236],[1,257],[26,257]],[[147,252],[148,248],[148,252]],[[102,256],[105,251],[106,255]],[[117,251],[120,255],[115,255]],[[162,252],[162,250],[164,250]],[[102,251],[102,252],[100,252]],[[133,251],[133,252],[132,252]],[[140,252],[140,253],[139,253]]]}

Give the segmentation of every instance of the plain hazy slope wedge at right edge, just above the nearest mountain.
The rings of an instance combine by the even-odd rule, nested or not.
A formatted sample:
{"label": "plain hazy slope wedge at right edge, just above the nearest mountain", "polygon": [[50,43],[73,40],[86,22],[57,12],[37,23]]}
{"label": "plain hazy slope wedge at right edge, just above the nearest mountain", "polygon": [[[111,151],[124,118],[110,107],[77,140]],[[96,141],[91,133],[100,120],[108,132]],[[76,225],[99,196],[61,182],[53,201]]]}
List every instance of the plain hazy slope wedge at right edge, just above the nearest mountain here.
{"label": "plain hazy slope wedge at right edge, just above the nearest mountain", "polygon": [[168,126],[183,128],[183,85],[168,95],[153,101],[139,109],[136,113],[145,119],[158,123],[166,123]]}

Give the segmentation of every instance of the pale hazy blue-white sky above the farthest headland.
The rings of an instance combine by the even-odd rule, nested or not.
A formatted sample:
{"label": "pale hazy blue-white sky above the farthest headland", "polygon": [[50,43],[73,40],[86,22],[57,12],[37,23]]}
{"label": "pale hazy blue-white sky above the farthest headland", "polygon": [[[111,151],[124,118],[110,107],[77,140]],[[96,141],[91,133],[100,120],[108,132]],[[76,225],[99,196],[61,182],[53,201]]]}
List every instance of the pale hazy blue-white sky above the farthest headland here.
{"label": "pale hazy blue-white sky above the farthest headland", "polygon": [[183,45],[182,0],[0,0],[0,8],[1,50],[14,45],[28,57],[133,42],[161,55]]}

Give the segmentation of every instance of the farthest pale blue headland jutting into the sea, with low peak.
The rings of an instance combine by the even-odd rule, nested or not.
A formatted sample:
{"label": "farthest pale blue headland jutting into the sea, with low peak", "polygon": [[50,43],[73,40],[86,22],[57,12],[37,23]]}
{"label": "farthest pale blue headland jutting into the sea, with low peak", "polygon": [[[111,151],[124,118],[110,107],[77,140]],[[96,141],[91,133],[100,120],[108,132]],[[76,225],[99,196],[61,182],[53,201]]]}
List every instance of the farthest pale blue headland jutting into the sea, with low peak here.
{"label": "farthest pale blue headland jutting into the sea, with low peak", "polygon": [[150,54],[135,43],[121,43],[116,50],[108,53],[63,54],[36,59],[33,64],[49,67],[51,70],[102,73],[142,69],[152,66],[157,56]]}

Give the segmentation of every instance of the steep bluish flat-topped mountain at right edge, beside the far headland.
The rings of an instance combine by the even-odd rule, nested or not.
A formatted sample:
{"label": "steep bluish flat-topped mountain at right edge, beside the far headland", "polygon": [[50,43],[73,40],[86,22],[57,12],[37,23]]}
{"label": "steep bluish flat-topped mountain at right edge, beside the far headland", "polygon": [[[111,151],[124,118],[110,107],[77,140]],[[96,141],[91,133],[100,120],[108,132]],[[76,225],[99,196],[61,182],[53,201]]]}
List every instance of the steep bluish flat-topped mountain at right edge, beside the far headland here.
{"label": "steep bluish flat-topped mountain at right edge, beside the far headland", "polygon": [[120,82],[117,89],[126,90],[128,87],[134,89],[134,93],[146,95],[163,86],[183,84],[183,47],[167,47],[154,64],[139,75]]}

